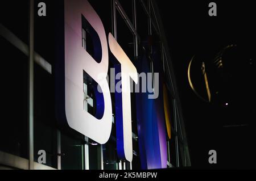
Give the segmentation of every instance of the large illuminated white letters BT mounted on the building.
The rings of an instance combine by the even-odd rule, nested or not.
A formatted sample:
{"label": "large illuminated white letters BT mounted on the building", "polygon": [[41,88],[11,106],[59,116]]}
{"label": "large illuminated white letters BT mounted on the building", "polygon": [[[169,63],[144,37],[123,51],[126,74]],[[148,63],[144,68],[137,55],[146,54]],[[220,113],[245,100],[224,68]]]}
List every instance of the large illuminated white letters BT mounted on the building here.
{"label": "large illuminated white letters BT mounted on the building", "polygon": [[[104,26],[100,17],[93,10],[88,1],[64,1],[64,75],[65,81],[62,86],[65,90],[63,103],[65,107],[64,119],[69,127],[84,134],[85,136],[105,144],[112,130],[112,100],[106,77],[109,68],[109,52],[114,55],[121,65],[122,89],[130,90],[130,78],[138,82],[137,69],[126,56],[111,33],[106,37]],[[98,48],[101,49],[100,61],[94,58],[82,47],[82,18],[86,19],[90,27],[96,32],[95,37],[99,40]],[[84,75],[86,72],[102,90],[104,106],[102,115],[96,118],[84,110]],[[58,74],[58,73],[57,73]],[[101,77],[98,75],[101,74]],[[63,75],[63,74],[61,74]],[[57,75],[61,77],[61,75]],[[103,79],[102,79],[103,75]],[[58,92],[56,93],[58,94]],[[98,101],[96,96],[96,102]],[[132,131],[131,131],[131,100],[130,91],[123,91],[121,96],[121,131],[117,134],[117,148],[119,154],[127,161],[133,159]],[[63,117],[62,117],[63,118]]]}

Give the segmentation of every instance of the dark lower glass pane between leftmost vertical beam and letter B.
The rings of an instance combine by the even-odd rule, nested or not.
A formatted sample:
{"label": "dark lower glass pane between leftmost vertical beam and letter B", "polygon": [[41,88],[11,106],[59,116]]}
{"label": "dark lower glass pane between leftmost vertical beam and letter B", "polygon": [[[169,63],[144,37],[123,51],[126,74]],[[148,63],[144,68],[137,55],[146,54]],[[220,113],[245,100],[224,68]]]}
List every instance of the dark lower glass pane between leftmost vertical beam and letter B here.
{"label": "dark lower glass pane between leftmost vertical beam and letter B", "polygon": [[57,128],[52,75],[35,64],[34,70],[34,157],[46,151],[46,165],[57,169]]}

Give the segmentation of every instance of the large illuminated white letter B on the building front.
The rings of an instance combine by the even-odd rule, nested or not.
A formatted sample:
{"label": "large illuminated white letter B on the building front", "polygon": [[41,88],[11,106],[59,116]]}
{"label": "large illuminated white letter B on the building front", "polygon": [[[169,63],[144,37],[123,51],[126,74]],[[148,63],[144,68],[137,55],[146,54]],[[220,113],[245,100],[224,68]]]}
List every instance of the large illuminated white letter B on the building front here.
{"label": "large illuminated white letter B on the building front", "polygon": [[[100,38],[102,58],[96,62],[82,47],[82,19],[84,16]],[[65,0],[65,114],[69,127],[105,144],[112,129],[112,102],[108,82],[98,78],[100,73],[108,74],[108,43],[100,17],[88,1]],[[100,85],[105,110],[102,118],[84,111],[83,71],[88,73]]]}

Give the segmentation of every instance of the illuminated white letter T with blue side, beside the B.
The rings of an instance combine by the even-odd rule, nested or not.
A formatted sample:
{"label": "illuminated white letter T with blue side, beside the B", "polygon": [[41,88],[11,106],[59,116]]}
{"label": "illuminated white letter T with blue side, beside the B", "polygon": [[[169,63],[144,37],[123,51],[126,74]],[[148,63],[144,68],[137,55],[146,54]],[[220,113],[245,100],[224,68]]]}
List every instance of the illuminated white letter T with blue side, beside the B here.
{"label": "illuminated white letter T with blue side, beside the B", "polygon": [[[138,82],[138,74],[135,66],[123,52],[122,48],[115,41],[114,37],[109,33],[109,48],[114,54],[115,58],[121,64],[121,77],[122,77],[122,119],[121,127],[123,131],[118,134],[118,143],[121,143],[121,148],[118,145],[118,155],[125,156],[128,161],[133,159],[133,142],[131,134],[131,95],[130,95],[130,77],[135,83]],[[120,123],[117,123],[119,125]],[[124,148],[124,149],[122,149]],[[121,153],[120,153],[121,152]]]}

